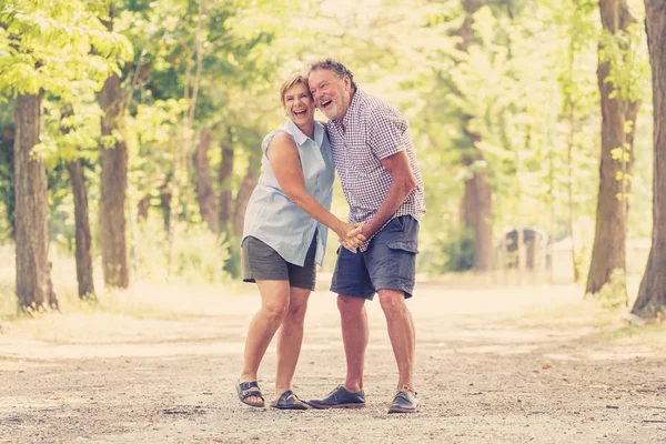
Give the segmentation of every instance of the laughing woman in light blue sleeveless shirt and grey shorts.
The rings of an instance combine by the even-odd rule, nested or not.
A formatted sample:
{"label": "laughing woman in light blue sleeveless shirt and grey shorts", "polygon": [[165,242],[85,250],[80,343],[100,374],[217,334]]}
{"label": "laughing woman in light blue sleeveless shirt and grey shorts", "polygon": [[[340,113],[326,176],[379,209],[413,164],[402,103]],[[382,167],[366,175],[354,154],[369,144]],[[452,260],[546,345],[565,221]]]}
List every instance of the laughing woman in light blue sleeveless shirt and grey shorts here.
{"label": "laughing woman in light blue sleeveless shirt and grey shorts", "polygon": [[263,407],[256,383],[259,365],[275,332],[278,371],[272,407],[306,410],[291,387],[303,342],[303,321],[316,264],[322,264],[327,229],[349,249],[363,239],[349,236],[355,228],[329,210],[334,167],[324,128],[314,120],[307,79],[294,74],[280,89],[286,120],[262,143],[262,173],[245,212],[243,280],[256,282],[261,309],[245,340],[244,362],[236,392],[241,402]]}

